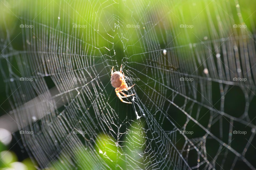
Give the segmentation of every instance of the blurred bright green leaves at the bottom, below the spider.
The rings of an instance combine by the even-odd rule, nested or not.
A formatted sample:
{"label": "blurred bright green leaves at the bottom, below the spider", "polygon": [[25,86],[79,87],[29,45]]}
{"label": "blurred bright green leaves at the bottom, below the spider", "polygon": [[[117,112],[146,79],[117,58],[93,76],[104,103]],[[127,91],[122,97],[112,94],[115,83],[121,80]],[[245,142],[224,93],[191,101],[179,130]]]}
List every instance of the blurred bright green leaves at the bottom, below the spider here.
{"label": "blurred bright green leaves at the bottom, below the spider", "polygon": [[[79,170],[100,169],[102,166],[105,167],[105,164],[107,164],[107,167],[105,167],[107,169],[145,169],[143,163],[146,155],[145,142],[143,125],[140,121],[134,121],[127,128],[123,146],[120,144],[121,142],[117,142],[110,135],[98,134],[93,151],[89,151],[89,148],[86,147],[74,148],[75,164],[77,164]],[[141,155],[144,155],[144,158]],[[100,159],[97,158],[98,156]],[[67,157],[61,155],[47,169],[68,170],[74,161],[71,158],[69,160],[67,159]],[[130,166],[130,168],[127,166]]]}

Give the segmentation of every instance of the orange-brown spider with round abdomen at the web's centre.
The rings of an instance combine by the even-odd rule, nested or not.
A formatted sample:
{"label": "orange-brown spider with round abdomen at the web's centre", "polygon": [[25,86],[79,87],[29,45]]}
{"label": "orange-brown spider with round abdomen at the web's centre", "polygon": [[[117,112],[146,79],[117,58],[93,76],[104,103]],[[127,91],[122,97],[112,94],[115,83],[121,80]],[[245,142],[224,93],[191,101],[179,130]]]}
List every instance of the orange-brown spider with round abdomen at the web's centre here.
{"label": "orange-brown spider with round abdomen at the web's centre", "polygon": [[[131,87],[128,87],[127,83],[125,82],[125,74],[123,73],[122,74],[122,64],[121,64],[121,67],[120,67],[120,71],[115,71],[113,73],[113,69],[114,69],[114,66],[112,67],[112,71],[111,71],[111,85],[113,87],[115,87],[115,93],[117,94],[117,97],[124,103],[131,103],[131,102],[127,102],[127,101],[123,101],[122,98],[125,98],[125,97],[129,97],[129,96],[133,96],[135,94],[131,94],[131,95],[126,95],[124,92],[122,92],[123,90],[124,91],[127,91],[129,90],[130,88],[132,88],[135,84],[133,84]],[[124,96],[121,96],[119,93],[121,93],[122,95]]]}

